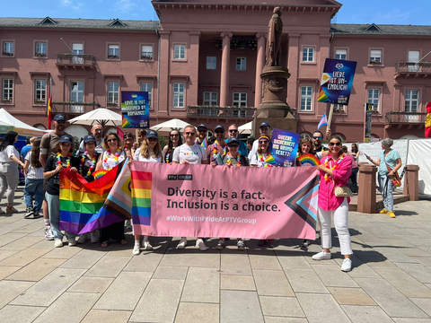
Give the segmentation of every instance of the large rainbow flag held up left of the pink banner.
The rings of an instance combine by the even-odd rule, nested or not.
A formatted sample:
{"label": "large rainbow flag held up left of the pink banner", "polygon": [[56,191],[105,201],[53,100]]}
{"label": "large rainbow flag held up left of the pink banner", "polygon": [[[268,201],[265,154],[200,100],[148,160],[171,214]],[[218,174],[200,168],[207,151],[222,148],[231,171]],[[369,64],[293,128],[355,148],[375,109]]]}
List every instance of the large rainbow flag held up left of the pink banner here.
{"label": "large rainbow flag held up left of the pink banner", "polygon": [[60,230],[81,234],[130,218],[127,214],[119,216],[106,210],[101,213],[105,199],[125,164],[121,162],[90,183],[71,170],[60,173]]}

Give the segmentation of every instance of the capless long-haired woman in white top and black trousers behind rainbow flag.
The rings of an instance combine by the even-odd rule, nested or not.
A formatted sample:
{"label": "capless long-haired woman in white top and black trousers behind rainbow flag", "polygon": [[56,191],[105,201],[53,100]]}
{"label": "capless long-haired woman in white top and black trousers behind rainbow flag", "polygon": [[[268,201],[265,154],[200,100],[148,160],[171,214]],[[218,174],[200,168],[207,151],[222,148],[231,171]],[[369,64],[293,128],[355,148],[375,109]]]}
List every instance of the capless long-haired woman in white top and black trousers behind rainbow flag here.
{"label": "capless long-haired woman in white top and black trousers behind rainbow flag", "polygon": [[[99,158],[96,170],[112,170],[120,162],[123,162],[126,155],[121,149],[122,146],[123,141],[117,133],[106,134],[103,137],[103,149],[106,151]],[[101,229],[101,248],[108,247],[110,239],[118,240],[121,244],[128,243],[124,235],[124,220]]]}

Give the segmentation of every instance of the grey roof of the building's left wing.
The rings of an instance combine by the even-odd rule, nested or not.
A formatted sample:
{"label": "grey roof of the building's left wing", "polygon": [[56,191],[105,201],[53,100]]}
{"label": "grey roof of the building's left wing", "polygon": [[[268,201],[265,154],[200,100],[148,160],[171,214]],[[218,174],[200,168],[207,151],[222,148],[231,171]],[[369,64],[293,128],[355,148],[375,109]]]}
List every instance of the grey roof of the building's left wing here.
{"label": "grey roof of the building's left wing", "polygon": [[108,30],[154,31],[160,22],[119,19],[67,19],[67,18],[0,18],[1,27],[22,28],[84,28]]}

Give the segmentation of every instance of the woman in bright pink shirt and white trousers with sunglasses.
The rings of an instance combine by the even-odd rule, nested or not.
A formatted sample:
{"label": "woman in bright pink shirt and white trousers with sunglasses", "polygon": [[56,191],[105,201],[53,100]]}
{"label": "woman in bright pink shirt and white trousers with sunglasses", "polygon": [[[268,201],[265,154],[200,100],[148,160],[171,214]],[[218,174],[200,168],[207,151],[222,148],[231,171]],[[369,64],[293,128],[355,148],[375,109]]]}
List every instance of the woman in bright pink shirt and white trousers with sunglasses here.
{"label": "woman in bright pink shirt and white trousers with sunglasses", "polygon": [[347,215],[350,197],[335,196],[336,187],[347,187],[348,178],[352,173],[352,158],[341,151],[341,138],[338,135],[330,137],[330,153],[321,159],[317,166],[320,172],[318,206],[321,221],[321,252],[312,256],[314,260],[330,259],[332,239],[330,235],[331,217],[334,217],[335,230],[339,236],[341,255],[344,256],[341,270],[352,269],[352,242],[348,232]]}

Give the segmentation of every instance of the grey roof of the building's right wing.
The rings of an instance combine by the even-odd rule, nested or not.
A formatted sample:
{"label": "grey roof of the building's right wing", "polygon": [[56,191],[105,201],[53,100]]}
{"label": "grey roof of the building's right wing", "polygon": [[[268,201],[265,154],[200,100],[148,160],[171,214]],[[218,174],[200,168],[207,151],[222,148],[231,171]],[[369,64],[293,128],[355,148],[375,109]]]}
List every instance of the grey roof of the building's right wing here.
{"label": "grey roof of the building's right wing", "polygon": [[331,23],[330,31],[352,35],[410,35],[431,36],[431,26]]}

